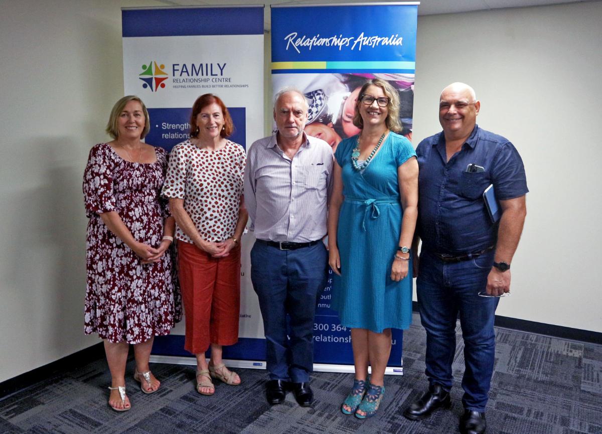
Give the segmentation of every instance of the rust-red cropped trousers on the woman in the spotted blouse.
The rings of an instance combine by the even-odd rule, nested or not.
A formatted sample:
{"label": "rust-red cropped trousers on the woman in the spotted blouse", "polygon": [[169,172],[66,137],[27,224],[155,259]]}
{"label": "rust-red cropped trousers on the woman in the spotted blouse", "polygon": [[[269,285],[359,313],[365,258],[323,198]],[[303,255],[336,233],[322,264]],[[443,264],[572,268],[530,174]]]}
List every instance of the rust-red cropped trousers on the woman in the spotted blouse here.
{"label": "rust-red cropped trousers on the woman in the spotted blouse", "polygon": [[194,244],[178,240],[178,262],[186,324],[184,349],[199,354],[209,344],[237,343],[240,244],[225,258],[213,258]]}

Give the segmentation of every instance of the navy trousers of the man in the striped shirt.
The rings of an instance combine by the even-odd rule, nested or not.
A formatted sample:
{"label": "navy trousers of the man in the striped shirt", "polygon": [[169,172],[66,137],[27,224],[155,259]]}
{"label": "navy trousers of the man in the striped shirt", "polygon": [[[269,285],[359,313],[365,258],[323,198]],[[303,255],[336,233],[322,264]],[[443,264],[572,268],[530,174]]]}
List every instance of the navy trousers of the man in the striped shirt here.
{"label": "navy trousers of the man in the striped shirt", "polygon": [[309,381],[314,366],[314,317],[326,286],[328,256],[323,243],[280,250],[256,242],[251,281],[263,317],[267,370],[272,380]]}

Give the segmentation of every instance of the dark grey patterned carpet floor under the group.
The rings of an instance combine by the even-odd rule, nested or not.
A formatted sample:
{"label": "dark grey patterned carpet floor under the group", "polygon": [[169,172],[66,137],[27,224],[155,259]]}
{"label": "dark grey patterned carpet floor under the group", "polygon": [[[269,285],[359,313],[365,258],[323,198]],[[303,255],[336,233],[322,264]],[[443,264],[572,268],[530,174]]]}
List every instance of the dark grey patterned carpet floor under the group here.
{"label": "dark grey patterned carpet floor under the group", "polygon": [[[414,324],[404,335],[405,375],[386,379],[379,414],[370,420],[339,411],[352,383],[350,374],[316,373],[311,408],[297,406],[291,394],[284,405],[270,408],[264,400],[265,371],[240,370],[243,385],[217,383],[216,394],[204,397],[194,391],[193,367],[164,364],[152,365],[163,382],[153,395],[143,394],[131,377],[127,380],[132,409],[118,414],[107,406],[110,376],[100,360],[1,400],[0,433],[457,433],[461,339],[452,410],[421,422],[401,414],[426,387],[424,331],[416,315]],[[134,370],[133,362],[128,369]],[[488,433],[602,434],[602,345],[498,329],[487,418]]]}

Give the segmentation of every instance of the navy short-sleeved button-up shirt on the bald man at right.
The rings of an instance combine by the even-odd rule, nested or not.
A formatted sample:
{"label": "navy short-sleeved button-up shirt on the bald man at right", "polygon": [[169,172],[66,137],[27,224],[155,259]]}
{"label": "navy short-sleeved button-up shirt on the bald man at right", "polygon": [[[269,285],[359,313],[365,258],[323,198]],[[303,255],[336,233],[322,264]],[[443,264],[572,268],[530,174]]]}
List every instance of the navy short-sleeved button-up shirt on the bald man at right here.
{"label": "navy short-sleeved button-up shirt on the bald man at right", "polygon": [[[462,149],[447,160],[443,132],[425,138],[416,149],[420,175],[418,234],[423,248],[436,253],[474,253],[497,241],[483,191],[494,185],[498,200],[529,191],[523,160],[506,138],[475,126]],[[466,172],[468,164],[483,172]]]}

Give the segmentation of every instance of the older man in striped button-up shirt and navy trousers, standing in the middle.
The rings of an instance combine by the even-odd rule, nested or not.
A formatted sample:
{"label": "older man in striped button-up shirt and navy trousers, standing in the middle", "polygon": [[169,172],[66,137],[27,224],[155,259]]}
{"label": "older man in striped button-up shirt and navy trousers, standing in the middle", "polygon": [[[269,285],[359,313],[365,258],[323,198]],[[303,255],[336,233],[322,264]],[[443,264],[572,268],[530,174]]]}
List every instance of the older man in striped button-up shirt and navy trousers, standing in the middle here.
{"label": "older man in striped button-up shirt and navy trousers, standing in the middle", "polygon": [[266,397],[272,405],[282,403],[288,389],[301,406],[313,399],[309,373],[315,305],[328,271],[322,238],[333,156],[326,141],[303,132],[308,108],[298,90],[276,95],[278,131],[252,144],[244,173],[244,200],[257,239],[251,281],[264,322]]}

